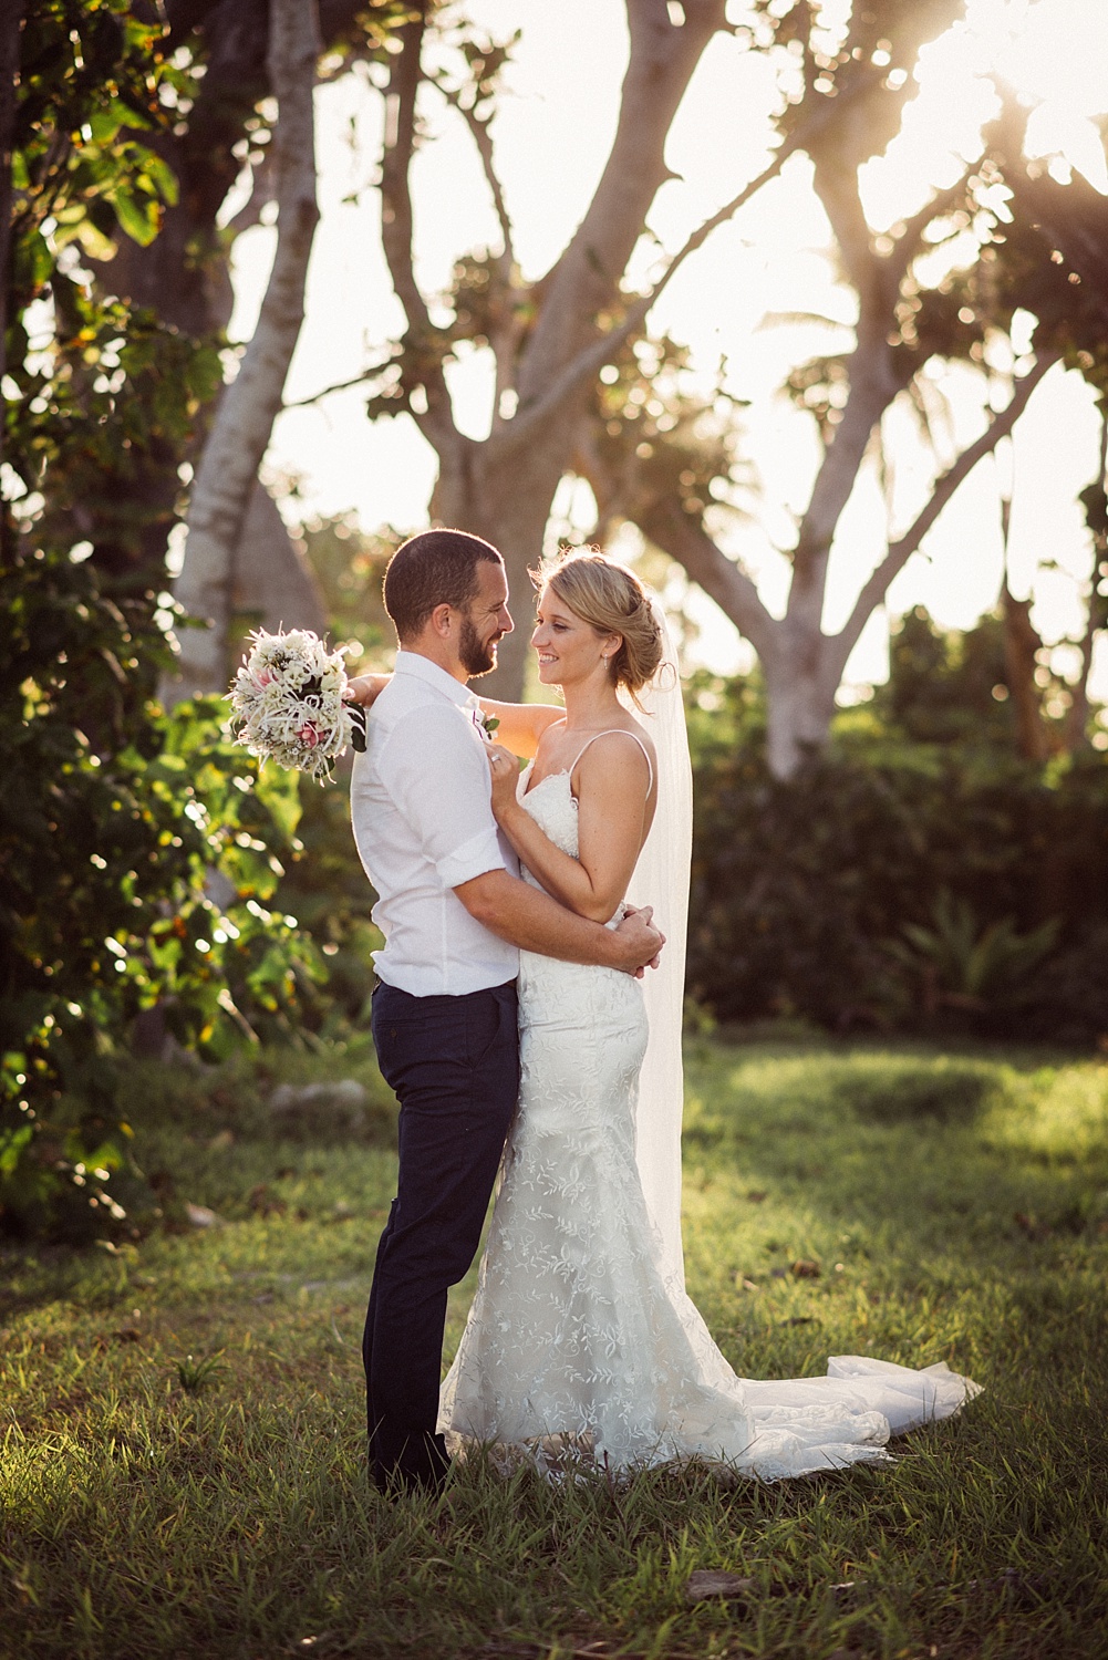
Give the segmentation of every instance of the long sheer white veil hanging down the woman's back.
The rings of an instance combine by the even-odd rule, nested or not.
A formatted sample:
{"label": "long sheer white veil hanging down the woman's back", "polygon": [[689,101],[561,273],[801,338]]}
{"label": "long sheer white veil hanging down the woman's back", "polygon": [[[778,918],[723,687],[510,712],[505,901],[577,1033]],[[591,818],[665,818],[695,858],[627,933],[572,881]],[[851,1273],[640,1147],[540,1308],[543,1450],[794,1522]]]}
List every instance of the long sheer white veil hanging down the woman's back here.
{"label": "long sheer white veil hanging down the woman's back", "polygon": [[[656,596],[651,598],[661,627],[663,664],[638,701],[643,722],[658,752],[658,808],[638,857],[628,898],[653,905],[655,921],[666,936],[659,968],[648,968],[643,981],[650,1041],[640,1074],[636,1114],[636,1159],[646,1208],[663,1247],[666,1278],[676,1277],[684,1290],[681,1248],[681,1016],[684,1008],[684,935],[689,910],[689,863],[693,857],[693,769],[684,730],[678,656]],[[621,692],[633,714],[630,697]]]}

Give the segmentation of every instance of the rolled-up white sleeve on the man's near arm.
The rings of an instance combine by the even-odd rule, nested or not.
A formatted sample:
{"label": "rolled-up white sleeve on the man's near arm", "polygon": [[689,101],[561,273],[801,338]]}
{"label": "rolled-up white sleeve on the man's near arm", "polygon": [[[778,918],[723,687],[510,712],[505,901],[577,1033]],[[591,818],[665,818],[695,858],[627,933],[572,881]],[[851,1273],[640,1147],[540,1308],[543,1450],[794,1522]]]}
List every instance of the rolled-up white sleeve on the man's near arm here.
{"label": "rolled-up white sleeve on the man's near arm", "polygon": [[488,762],[460,709],[414,709],[394,727],[379,772],[444,888],[507,868]]}

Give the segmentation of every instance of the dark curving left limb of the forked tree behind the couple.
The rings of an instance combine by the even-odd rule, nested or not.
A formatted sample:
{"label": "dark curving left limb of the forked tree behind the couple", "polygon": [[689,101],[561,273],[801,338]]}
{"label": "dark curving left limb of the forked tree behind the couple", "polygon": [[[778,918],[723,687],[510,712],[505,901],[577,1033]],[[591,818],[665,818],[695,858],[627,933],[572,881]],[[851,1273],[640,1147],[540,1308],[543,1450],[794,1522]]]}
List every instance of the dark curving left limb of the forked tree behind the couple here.
{"label": "dark curving left limb of the forked tree behind the couple", "polygon": [[414,377],[427,392],[427,413],[414,418],[435,448],[457,442],[450,392],[442,372],[444,342],[430,320],[415,281],[410,168],[415,153],[415,98],[422,81],[420,51],[427,30],[427,0],[399,30],[400,51],[392,58],[385,95],[385,143],[380,166],[380,239],[392,286],[409,322],[405,340]]}

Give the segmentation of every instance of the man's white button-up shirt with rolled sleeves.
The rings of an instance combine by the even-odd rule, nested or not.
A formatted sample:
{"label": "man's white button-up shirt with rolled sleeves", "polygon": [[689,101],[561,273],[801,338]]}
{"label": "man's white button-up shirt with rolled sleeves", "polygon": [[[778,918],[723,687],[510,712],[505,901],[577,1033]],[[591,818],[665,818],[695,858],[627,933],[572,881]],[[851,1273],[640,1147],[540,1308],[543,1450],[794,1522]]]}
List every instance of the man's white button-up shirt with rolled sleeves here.
{"label": "man's white button-up shirt with rolled sleeves", "polygon": [[453,891],[487,870],[518,873],[492,815],[480,706],[453,676],[399,651],[354,757],[351,817],[377,890],[380,979],[415,998],[462,996],[515,979],[515,946],[475,921]]}

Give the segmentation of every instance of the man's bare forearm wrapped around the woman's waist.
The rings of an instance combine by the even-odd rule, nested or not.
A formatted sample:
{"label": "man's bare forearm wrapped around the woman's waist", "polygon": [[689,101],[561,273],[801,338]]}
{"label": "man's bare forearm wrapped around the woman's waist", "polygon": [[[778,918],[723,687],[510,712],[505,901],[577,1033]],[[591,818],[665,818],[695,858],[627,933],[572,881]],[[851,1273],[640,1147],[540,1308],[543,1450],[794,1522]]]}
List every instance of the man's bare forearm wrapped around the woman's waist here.
{"label": "man's bare forearm wrapped around the woman's waist", "polygon": [[650,906],[631,911],[618,928],[603,928],[540,893],[507,870],[487,870],[453,890],[475,921],[522,951],[556,956],[563,963],[618,968],[635,974],[653,963],[663,935],[653,926]]}

